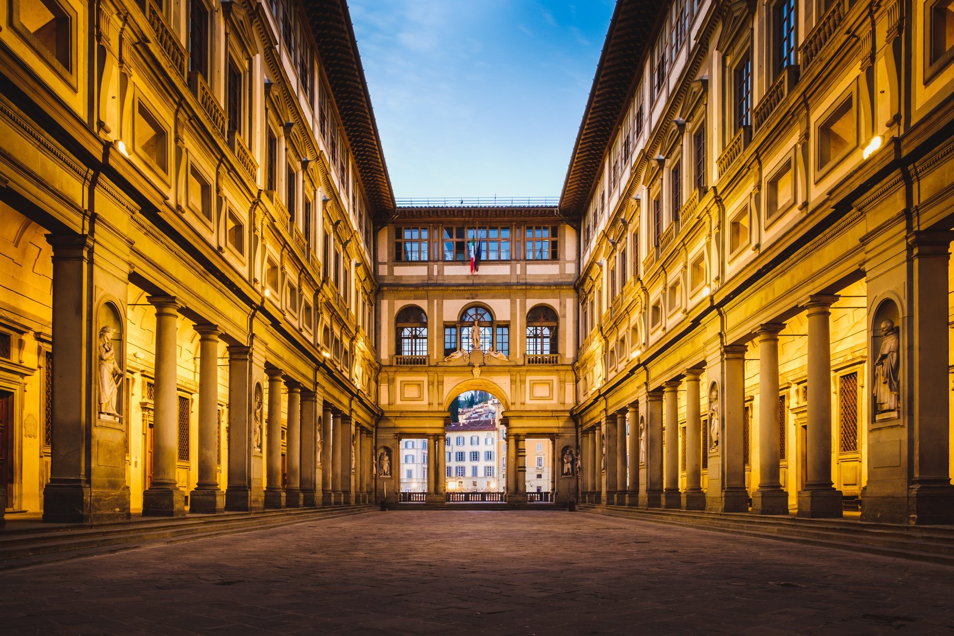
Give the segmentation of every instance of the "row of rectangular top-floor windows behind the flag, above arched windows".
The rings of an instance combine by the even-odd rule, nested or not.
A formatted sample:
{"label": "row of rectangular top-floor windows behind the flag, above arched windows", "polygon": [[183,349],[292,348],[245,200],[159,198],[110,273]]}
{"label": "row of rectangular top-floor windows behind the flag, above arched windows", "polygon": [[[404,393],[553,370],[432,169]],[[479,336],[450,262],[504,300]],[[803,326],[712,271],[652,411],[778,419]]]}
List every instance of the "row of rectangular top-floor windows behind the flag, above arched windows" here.
{"label": "row of rectangular top-floor windows behind the flag, above arched windows", "polygon": [[447,262],[467,262],[472,255],[480,260],[516,260],[521,254],[527,260],[559,258],[559,227],[555,225],[443,227],[433,245],[426,227],[399,227],[395,232],[394,259],[399,262],[430,260],[431,255]]}

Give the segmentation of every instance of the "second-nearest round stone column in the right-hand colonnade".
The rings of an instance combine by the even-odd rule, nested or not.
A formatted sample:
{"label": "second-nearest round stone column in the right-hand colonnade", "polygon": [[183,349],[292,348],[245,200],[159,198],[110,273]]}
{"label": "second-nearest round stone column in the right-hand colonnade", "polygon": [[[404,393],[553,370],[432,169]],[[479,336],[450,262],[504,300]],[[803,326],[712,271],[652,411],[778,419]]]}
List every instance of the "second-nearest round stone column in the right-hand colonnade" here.
{"label": "second-nearest round stone column in the right-hand colonnade", "polygon": [[784,328],[771,322],[758,329],[758,488],[752,493],[757,515],[788,514],[778,468],[778,332]]}

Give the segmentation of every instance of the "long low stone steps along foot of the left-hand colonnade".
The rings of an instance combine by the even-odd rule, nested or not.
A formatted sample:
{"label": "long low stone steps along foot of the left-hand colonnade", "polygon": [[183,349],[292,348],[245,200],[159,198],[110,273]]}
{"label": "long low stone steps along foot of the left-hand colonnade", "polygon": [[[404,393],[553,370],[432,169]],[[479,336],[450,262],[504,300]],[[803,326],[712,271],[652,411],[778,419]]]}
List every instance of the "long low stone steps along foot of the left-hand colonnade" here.
{"label": "long low stone steps along foot of the left-hand colonnade", "polygon": [[[75,552],[88,556],[116,546],[131,547],[147,542],[177,543],[236,532],[333,519],[376,510],[362,504],[298,508],[266,512],[225,513],[184,519],[143,519],[102,525],[41,526],[37,529],[4,529],[0,532],[0,570],[23,565],[29,557]],[[51,529],[47,529],[47,528]]]}

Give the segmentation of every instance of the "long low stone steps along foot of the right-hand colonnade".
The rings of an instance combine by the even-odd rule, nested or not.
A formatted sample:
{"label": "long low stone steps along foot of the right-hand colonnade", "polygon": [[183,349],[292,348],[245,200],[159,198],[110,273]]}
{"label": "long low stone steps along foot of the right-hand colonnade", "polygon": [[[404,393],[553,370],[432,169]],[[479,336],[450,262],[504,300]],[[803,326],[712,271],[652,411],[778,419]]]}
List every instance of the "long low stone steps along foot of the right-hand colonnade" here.
{"label": "long low stone steps along foot of the right-hand colonnade", "polygon": [[746,537],[799,544],[825,545],[882,556],[954,565],[954,528],[864,523],[851,520],[813,520],[760,517],[745,513],[631,508],[581,504],[581,511],[639,521],[690,526]]}

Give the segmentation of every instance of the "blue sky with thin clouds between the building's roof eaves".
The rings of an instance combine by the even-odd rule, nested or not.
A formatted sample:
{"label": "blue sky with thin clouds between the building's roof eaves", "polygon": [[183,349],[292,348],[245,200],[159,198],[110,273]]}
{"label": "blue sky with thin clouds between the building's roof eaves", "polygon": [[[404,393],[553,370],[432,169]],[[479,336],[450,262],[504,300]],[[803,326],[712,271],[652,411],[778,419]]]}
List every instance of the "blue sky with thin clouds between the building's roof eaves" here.
{"label": "blue sky with thin clouds between the building's roof eaves", "polygon": [[558,196],[612,0],[350,0],[397,197]]}

